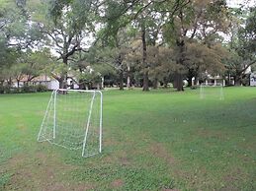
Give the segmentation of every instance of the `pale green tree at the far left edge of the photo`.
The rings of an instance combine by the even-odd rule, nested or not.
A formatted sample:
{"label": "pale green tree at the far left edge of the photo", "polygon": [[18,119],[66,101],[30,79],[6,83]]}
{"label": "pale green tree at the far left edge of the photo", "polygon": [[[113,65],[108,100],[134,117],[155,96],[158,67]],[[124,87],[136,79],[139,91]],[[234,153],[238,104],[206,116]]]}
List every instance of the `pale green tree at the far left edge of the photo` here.
{"label": "pale green tree at the far left edge of the photo", "polygon": [[[11,85],[12,78],[22,78],[21,58],[33,48],[40,48],[43,36],[31,21],[26,1],[0,1],[0,79],[1,84],[7,81]],[[8,71],[8,72],[6,72]]]}

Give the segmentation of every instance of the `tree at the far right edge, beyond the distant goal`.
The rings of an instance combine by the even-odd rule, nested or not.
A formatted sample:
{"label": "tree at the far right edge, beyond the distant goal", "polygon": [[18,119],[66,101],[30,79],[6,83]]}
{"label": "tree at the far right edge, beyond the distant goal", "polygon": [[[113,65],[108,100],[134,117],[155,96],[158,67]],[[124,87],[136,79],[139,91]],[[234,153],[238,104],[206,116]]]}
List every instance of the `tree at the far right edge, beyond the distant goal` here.
{"label": "tree at the far right edge, beyond the distant goal", "polygon": [[256,9],[233,9],[231,12],[231,38],[228,43],[230,58],[226,61],[227,75],[234,78],[235,86],[241,86],[248,69],[256,63],[255,28]]}

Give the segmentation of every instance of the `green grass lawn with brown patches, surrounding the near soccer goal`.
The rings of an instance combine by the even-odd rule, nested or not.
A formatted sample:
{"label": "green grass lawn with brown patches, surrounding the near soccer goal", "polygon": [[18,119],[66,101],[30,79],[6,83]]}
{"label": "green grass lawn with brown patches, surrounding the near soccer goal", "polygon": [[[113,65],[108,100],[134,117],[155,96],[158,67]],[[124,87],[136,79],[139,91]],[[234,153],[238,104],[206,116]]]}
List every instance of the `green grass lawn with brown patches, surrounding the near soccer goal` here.
{"label": "green grass lawn with brown patches, surrounding the near soccer goal", "polygon": [[49,93],[0,96],[0,190],[256,190],[256,89],[104,92],[103,153],[37,135]]}

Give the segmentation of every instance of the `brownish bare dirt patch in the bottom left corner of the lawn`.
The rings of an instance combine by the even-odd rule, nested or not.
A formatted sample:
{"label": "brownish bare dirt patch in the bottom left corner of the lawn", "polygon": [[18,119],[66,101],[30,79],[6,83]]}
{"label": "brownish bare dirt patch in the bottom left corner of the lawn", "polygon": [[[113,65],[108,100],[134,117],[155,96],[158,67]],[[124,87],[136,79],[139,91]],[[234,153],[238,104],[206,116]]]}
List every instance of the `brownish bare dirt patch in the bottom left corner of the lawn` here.
{"label": "brownish bare dirt patch in the bottom left corner of the lawn", "polygon": [[[62,162],[59,157],[38,153],[35,156],[17,155],[4,165],[13,175],[6,190],[89,190],[89,184],[68,182],[64,178],[76,166]],[[2,167],[2,166],[1,166]]]}

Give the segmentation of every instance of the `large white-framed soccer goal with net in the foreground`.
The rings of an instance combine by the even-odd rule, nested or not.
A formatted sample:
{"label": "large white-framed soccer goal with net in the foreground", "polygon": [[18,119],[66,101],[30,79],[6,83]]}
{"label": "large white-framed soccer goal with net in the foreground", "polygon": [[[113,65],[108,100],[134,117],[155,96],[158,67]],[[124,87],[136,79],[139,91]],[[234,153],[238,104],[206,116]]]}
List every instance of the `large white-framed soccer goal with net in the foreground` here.
{"label": "large white-framed soccer goal with net in the foreground", "polygon": [[81,150],[87,158],[102,152],[102,93],[55,90],[44,113],[38,141]]}

